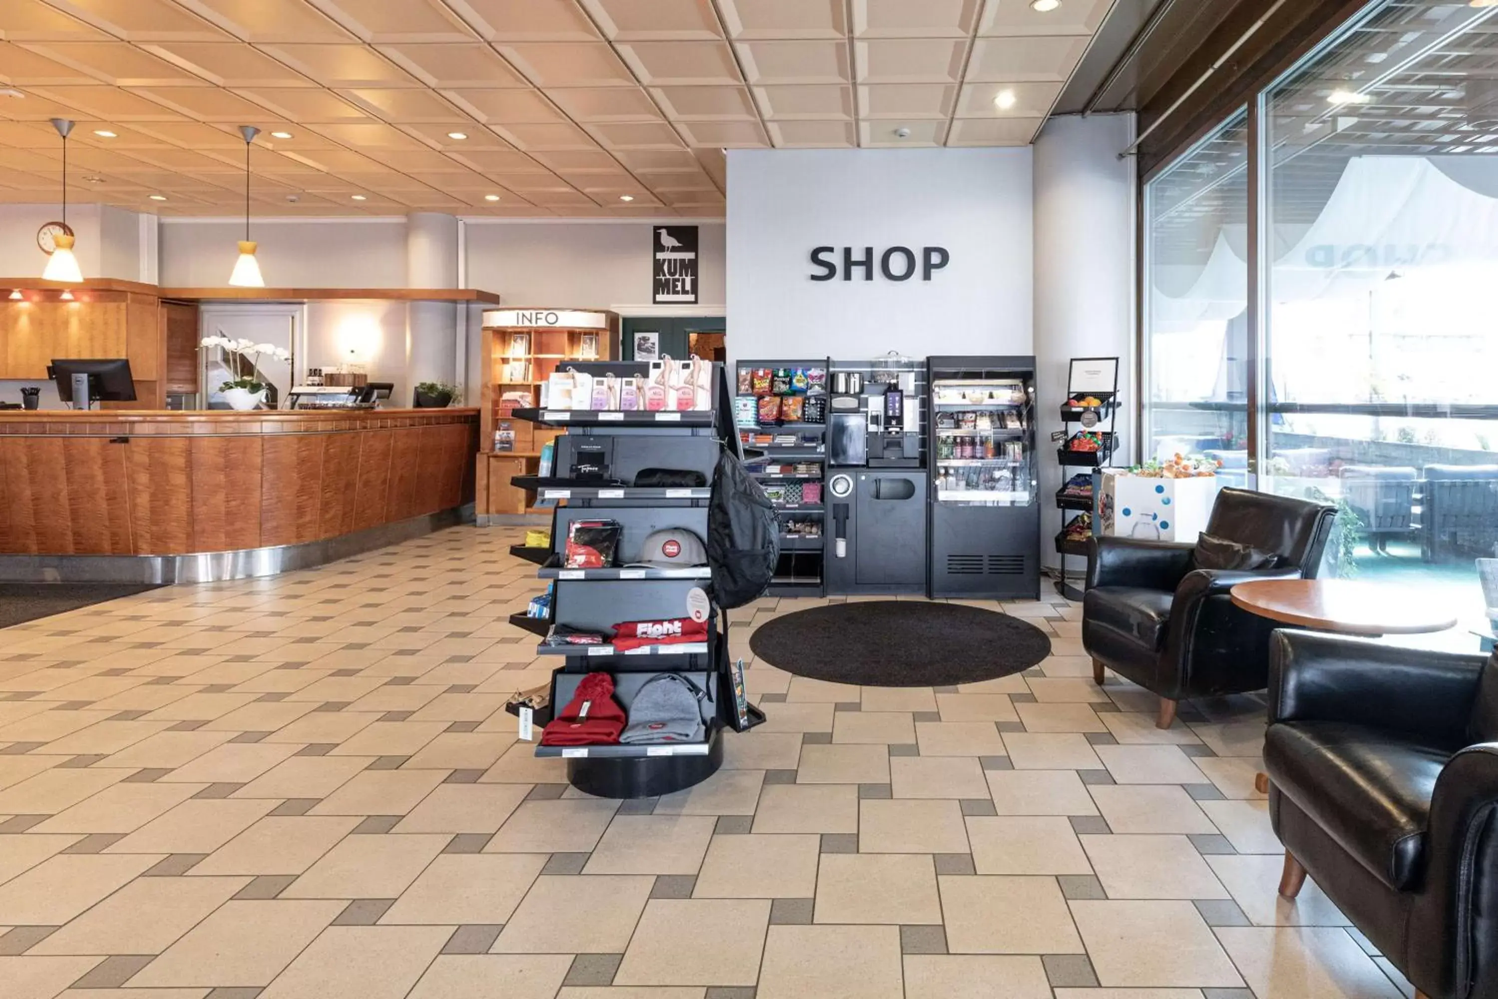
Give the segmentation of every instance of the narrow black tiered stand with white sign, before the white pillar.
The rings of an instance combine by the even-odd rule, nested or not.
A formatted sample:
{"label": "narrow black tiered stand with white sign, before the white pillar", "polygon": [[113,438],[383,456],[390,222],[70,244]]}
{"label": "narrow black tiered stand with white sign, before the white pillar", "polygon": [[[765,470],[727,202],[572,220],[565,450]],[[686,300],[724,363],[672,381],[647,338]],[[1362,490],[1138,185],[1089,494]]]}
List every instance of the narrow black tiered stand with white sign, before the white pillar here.
{"label": "narrow black tiered stand with white sign, before the white pillar", "polygon": [[[1082,403],[1082,404],[1074,404]],[[1094,404],[1095,403],[1095,404]],[[1119,359],[1118,358],[1073,358],[1067,374],[1067,400],[1061,404],[1061,422],[1065,437],[1056,452],[1061,463],[1062,482],[1056,491],[1056,506],[1076,515],[1056,535],[1056,553],[1061,556],[1061,578],[1056,592],[1070,601],[1080,601],[1082,589],[1067,581],[1067,557],[1088,557],[1088,538],[1098,532],[1098,469],[1107,467],[1118,451],[1119,407]],[[1080,442],[1095,442],[1095,449],[1079,446]],[[1070,488],[1077,475],[1091,479],[1091,488]],[[1080,484],[1079,484],[1080,485]]]}

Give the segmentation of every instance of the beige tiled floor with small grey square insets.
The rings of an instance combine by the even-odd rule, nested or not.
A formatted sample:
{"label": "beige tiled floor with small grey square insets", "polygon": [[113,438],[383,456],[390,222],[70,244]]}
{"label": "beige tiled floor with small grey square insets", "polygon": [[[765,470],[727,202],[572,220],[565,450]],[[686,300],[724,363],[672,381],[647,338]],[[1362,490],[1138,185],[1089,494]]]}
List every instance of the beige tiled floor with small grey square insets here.
{"label": "beige tiled floor with small grey square insets", "polygon": [[[0,632],[0,999],[1335,999],[1408,986],[1276,897],[1263,704],[1053,656],[951,689],[752,664],[770,722],[602,801],[515,743],[514,532]],[[804,605],[761,601],[749,631]]]}

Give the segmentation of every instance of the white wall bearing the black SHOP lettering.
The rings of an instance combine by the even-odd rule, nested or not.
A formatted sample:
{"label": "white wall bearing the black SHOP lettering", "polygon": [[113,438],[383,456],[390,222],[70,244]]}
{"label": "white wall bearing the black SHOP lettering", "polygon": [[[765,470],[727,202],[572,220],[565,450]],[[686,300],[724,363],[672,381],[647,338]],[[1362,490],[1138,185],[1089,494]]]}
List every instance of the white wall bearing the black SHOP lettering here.
{"label": "white wall bearing the black SHOP lettering", "polygon": [[[730,150],[728,353],[1032,353],[1031,150]],[[813,247],[945,247],[930,282],[813,282]]]}

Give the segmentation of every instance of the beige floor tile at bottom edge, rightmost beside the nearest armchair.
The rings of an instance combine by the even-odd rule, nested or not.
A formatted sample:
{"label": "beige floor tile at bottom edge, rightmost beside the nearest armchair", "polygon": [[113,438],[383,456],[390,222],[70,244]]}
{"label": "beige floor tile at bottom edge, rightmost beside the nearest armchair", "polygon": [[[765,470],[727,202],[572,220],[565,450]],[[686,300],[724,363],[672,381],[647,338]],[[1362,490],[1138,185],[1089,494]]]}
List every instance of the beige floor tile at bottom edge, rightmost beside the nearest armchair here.
{"label": "beige floor tile at bottom edge, rightmost beside the nearest armchair", "polygon": [[1248,987],[1296,999],[1399,999],[1353,938],[1335,927],[1221,927],[1218,939]]}

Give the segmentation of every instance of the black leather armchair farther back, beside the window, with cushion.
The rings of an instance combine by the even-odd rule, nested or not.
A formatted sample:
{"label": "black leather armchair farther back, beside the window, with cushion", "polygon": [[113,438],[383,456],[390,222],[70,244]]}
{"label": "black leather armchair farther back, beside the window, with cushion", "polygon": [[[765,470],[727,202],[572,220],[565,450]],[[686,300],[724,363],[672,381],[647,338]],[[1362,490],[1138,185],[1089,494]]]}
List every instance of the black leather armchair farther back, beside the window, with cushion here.
{"label": "black leather armchair farther back, beside the window, with cushion", "polygon": [[1335,515],[1324,503],[1222,490],[1206,533],[1278,556],[1248,572],[1195,569],[1192,545],[1094,538],[1082,604],[1094,680],[1107,668],[1158,693],[1159,728],[1182,698],[1263,690],[1276,625],[1234,607],[1228,592],[1248,580],[1314,578]]}

